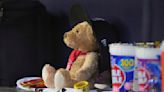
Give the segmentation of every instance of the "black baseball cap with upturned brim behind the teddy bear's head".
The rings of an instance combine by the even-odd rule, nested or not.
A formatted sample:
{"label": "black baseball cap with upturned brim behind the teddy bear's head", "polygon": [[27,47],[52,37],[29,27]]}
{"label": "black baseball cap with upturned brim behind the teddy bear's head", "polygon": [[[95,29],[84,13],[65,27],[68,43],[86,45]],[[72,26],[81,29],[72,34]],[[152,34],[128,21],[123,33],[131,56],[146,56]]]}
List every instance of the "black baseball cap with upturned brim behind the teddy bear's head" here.
{"label": "black baseball cap with upturned brim behind the teddy bear's head", "polygon": [[98,41],[102,39],[107,39],[107,43],[119,41],[117,32],[116,30],[114,30],[114,27],[111,23],[105,21],[105,19],[102,18],[90,19],[88,17],[88,14],[80,4],[76,3],[72,5],[69,12],[69,22],[71,28],[83,21],[87,21],[92,26],[94,34]]}

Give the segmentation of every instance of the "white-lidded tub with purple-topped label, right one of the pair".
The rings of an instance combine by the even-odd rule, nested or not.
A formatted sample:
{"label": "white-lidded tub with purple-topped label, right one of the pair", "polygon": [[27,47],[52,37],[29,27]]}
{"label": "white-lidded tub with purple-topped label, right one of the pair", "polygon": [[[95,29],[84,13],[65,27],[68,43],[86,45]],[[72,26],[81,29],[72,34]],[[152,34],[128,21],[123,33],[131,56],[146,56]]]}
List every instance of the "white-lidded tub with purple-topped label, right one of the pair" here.
{"label": "white-lidded tub with purple-topped label, right one of the pair", "polygon": [[160,49],[136,47],[133,90],[161,92]]}

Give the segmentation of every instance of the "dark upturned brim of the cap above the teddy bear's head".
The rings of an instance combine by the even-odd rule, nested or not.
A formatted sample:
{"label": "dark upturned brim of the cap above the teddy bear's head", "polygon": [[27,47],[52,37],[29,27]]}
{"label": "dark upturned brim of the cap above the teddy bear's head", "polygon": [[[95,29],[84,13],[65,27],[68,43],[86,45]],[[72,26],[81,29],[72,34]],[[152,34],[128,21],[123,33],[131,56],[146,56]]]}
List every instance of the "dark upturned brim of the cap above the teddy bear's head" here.
{"label": "dark upturned brim of the cap above the teddy bear's head", "polygon": [[73,4],[69,12],[69,22],[71,27],[83,21],[87,21],[89,24],[91,24],[85,9],[78,3]]}

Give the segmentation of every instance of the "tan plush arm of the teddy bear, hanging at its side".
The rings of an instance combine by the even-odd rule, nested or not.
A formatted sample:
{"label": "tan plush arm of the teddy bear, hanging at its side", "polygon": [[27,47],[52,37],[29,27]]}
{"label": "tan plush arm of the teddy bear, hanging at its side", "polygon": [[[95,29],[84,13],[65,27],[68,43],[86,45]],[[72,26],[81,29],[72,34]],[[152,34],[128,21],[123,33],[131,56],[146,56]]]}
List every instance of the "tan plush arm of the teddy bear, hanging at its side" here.
{"label": "tan plush arm of the teddy bear, hanging at its side", "polygon": [[88,80],[98,71],[98,53],[90,52],[86,55],[84,64],[76,73],[78,81]]}

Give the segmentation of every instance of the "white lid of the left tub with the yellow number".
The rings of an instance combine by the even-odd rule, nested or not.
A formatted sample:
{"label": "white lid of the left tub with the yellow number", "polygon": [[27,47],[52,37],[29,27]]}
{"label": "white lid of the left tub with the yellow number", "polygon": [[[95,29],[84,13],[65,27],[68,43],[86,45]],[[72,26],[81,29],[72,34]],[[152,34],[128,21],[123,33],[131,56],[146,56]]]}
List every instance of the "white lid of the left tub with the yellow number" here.
{"label": "white lid of the left tub with the yellow number", "polygon": [[109,52],[111,55],[134,56],[135,46],[128,43],[113,43],[109,44]]}

